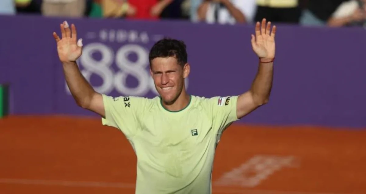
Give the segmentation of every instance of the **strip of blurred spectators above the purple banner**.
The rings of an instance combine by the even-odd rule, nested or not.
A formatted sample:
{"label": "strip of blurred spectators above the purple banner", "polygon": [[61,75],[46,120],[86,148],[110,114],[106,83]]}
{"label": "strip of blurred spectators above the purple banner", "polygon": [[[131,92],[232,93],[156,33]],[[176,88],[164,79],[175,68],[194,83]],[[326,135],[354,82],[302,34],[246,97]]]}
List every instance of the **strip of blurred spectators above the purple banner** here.
{"label": "strip of blurred spectators above the purple banner", "polygon": [[366,0],[0,0],[0,14],[366,27]]}

